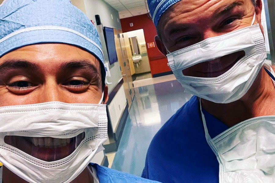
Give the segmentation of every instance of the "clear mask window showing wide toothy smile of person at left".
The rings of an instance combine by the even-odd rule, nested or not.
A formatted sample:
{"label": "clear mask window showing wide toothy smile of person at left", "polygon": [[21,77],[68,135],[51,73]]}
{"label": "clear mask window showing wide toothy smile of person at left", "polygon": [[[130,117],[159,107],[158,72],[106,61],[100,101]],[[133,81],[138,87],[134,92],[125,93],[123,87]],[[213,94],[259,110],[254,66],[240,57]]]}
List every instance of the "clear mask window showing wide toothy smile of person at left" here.
{"label": "clear mask window showing wide toothy smile of person at left", "polygon": [[6,144],[43,161],[51,162],[69,156],[85,138],[85,132],[72,138],[24,137],[7,135]]}

